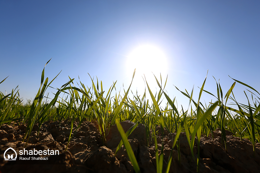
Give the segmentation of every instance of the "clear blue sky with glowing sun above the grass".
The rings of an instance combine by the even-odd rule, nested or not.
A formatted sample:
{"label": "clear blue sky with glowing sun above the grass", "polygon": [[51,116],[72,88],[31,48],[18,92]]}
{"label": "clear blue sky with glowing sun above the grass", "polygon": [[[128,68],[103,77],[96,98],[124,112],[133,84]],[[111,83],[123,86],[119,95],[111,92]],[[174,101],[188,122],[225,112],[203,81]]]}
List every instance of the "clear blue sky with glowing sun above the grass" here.
{"label": "clear blue sky with glowing sun above the grass", "polygon": [[[90,87],[91,76],[104,91],[117,81],[122,92],[136,68],[133,93],[144,93],[142,74],[158,93],[153,74],[159,80],[161,73],[179,107],[189,99],[175,86],[189,93],[194,86],[197,101],[206,75],[204,89],[214,95],[212,76],[224,94],[234,82],[230,77],[260,91],[259,8],[259,1],[0,1],[0,81],[9,76],[0,91],[9,94],[19,85],[23,102],[33,100],[51,58],[45,77],[50,81],[62,70],[54,88],[69,77],[76,87],[79,78]],[[238,102],[247,102],[246,89],[236,83]],[[201,102],[211,99],[203,93]]]}

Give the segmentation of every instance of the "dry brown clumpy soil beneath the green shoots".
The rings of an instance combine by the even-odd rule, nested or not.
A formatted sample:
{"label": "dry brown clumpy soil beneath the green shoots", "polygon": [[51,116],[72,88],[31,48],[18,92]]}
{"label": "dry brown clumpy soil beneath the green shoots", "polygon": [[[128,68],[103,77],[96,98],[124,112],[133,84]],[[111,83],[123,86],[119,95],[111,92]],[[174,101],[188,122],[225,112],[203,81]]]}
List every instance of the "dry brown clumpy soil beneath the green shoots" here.
{"label": "dry brown clumpy soil beneath the green shoots", "polygon": [[[125,148],[122,146],[117,155],[115,150],[121,140],[116,126],[112,126],[107,137],[106,146],[102,145],[102,139],[95,122],[84,121],[80,129],[75,132],[72,140],[65,151],[69,133],[70,121],[44,122],[40,133],[37,136],[38,125],[36,124],[31,133],[30,140],[25,146],[22,138],[26,126],[24,124],[9,126],[2,124],[0,128],[0,172],[134,172],[133,166],[129,161]],[[78,122],[74,122],[73,132],[76,130]],[[130,121],[121,122],[125,131],[133,123]],[[227,131],[227,142],[225,147],[221,141],[221,131],[216,129],[213,133],[215,137],[201,137],[199,144],[199,171],[200,172],[259,172],[260,170],[260,145],[255,145],[253,152],[252,143],[247,139],[240,140]],[[162,137],[158,127],[157,142],[159,150],[162,142],[164,143],[164,168],[171,153],[175,134],[169,134],[164,130]],[[138,127],[128,137],[135,157],[138,161],[141,172],[155,173],[155,146],[150,140],[149,147],[146,146],[145,127],[139,124]],[[191,150],[185,133],[181,133],[180,141],[180,162],[178,161],[177,147],[173,149],[173,158],[170,172],[196,172],[197,159],[192,158]],[[9,147],[13,148],[20,157],[20,150],[59,150],[59,155],[46,155],[48,160],[16,160],[6,161],[4,152]],[[9,150],[8,150],[9,152]],[[8,154],[6,152],[6,154]],[[11,151],[10,151],[11,153]],[[159,151],[160,153],[160,151]],[[195,140],[194,156],[197,158],[198,144]],[[34,155],[35,156],[35,155]],[[45,157],[46,157],[45,156]],[[25,157],[23,155],[23,157]],[[42,157],[36,155],[35,157]]]}

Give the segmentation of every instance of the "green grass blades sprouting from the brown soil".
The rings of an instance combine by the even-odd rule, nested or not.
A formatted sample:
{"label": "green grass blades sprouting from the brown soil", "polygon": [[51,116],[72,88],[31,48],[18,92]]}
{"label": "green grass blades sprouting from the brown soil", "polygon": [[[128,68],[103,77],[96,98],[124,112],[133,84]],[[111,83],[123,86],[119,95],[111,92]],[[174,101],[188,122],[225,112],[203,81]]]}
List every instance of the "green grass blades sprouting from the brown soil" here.
{"label": "green grass blades sprouting from the brown soil", "polygon": [[[74,79],[69,78],[66,84],[62,85],[61,88],[57,88],[54,97],[50,99],[51,94],[46,93],[46,89],[51,87],[51,83],[59,74],[48,83],[48,78],[44,78],[44,68],[41,75],[40,88],[33,101],[29,101],[27,104],[23,105],[22,100],[19,98],[17,87],[13,89],[10,94],[0,92],[0,125],[3,123],[11,124],[14,121],[19,124],[27,124],[23,141],[29,141],[30,133],[36,123],[39,124],[39,133],[40,127],[45,121],[53,120],[61,122],[62,120],[69,119],[71,120],[71,131],[68,136],[67,144],[69,144],[74,133],[80,128],[81,123],[84,120],[88,120],[97,122],[103,145],[106,145],[108,132],[111,126],[116,124],[120,135],[122,136],[122,140],[118,145],[116,153],[124,144],[135,172],[140,172],[140,168],[133,154],[132,148],[128,143],[127,137],[139,123],[142,123],[145,125],[147,137],[146,144],[148,147],[150,145],[149,135],[150,132],[152,132],[152,137],[155,142],[156,166],[158,173],[163,171],[168,172],[170,170],[173,148],[175,145],[177,145],[178,148],[178,159],[180,162],[180,144],[178,137],[181,132],[186,132],[187,140],[192,153],[192,159],[197,160],[197,172],[199,172],[200,161],[199,149],[197,150],[197,159],[194,158],[193,155],[196,136],[199,147],[201,135],[208,136],[216,128],[221,128],[223,146],[226,148],[225,130],[229,130],[241,140],[242,138],[248,138],[251,140],[253,145],[252,154],[254,154],[255,151],[255,143],[260,142],[260,94],[253,87],[236,79],[231,78],[235,82],[231,85],[230,89],[226,91],[225,96],[223,95],[224,91],[222,90],[219,82],[216,81],[217,95],[215,96],[214,94],[204,90],[206,77],[202,87],[200,88],[199,98],[197,100],[194,100],[192,97],[193,90],[190,95],[186,90],[183,92],[176,87],[177,90],[179,90],[190,100],[190,104],[187,109],[184,109],[181,106],[181,109],[178,110],[175,106],[176,98],[170,98],[164,89],[167,79],[165,82],[162,82],[161,76],[160,80],[155,77],[155,80],[160,88],[159,92],[155,94],[151,92],[148,82],[145,80],[148,93],[152,98],[151,101],[146,100],[146,91],[142,96],[138,96],[137,92],[135,94],[132,92],[133,96],[130,98],[129,91],[132,82],[127,91],[123,89],[123,94],[120,92],[115,92],[115,95],[111,95],[112,91],[116,91],[116,82],[114,82],[106,92],[103,91],[102,81],[99,82],[99,80],[96,79],[95,83],[94,79],[91,77],[92,84],[90,87],[85,86],[80,80],[80,84],[77,84],[78,86],[75,87]],[[133,72],[133,78],[134,75],[135,71]],[[5,79],[3,79],[0,84],[4,82]],[[248,90],[251,95],[250,99],[244,91],[248,104],[241,104],[236,101],[232,92],[236,83],[244,85],[250,89]],[[217,101],[209,101],[208,105],[203,105],[200,102],[202,93],[214,96]],[[164,97],[166,98],[167,103],[165,107],[162,107],[160,104],[162,98]],[[46,98],[48,98],[49,101],[47,101]],[[237,109],[231,108],[227,105],[228,99],[233,101],[231,105],[236,105]],[[133,127],[126,133],[121,129],[119,123],[125,120],[135,122]],[[76,130],[73,131],[73,123],[75,121],[79,121],[79,125]],[[160,155],[158,154],[158,136],[155,130],[157,126],[161,127],[162,136],[164,135],[164,128],[166,128],[170,134],[176,133],[174,137],[172,136],[174,142],[172,145],[172,152],[167,160],[166,170],[163,170],[162,166],[164,162],[163,143],[161,146],[162,152]],[[213,135],[212,139],[214,139]]]}

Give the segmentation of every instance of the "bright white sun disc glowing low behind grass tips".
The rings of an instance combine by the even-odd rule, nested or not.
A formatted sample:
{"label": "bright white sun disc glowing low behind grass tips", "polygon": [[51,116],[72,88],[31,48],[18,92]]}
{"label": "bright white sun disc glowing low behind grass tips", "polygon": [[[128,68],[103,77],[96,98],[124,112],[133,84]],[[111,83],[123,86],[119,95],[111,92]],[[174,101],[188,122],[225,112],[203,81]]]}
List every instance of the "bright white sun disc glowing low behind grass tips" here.
{"label": "bright white sun disc glowing low behind grass tips", "polygon": [[167,65],[165,53],[159,47],[150,44],[140,45],[129,53],[126,61],[126,73],[128,77],[131,77],[136,68],[134,77],[136,79],[134,80],[137,82],[138,88],[144,88],[144,76],[148,85],[151,82],[156,83],[154,75],[158,80],[160,74],[167,75]]}

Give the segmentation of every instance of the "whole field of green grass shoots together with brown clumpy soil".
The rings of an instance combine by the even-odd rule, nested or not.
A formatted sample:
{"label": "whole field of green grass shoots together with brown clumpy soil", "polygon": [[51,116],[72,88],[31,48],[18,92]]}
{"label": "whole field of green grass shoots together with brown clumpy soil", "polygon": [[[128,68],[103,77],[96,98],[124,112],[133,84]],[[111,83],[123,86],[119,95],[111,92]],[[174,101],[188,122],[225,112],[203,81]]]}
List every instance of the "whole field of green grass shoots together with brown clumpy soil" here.
{"label": "whole field of green grass shoots together with brown clumpy soil", "polygon": [[[163,82],[161,78],[154,78],[160,88],[156,94],[146,82],[151,101],[146,100],[146,92],[130,97],[131,85],[123,94],[111,95],[116,82],[103,91],[102,81],[94,79],[91,87],[81,82],[76,87],[74,79],[70,79],[57,88],[54,98],[46,101],[46,89],[53,80],[44,78],[43,69],[38,93],[26,105],[22,104],[17,88],[7,95],[0,93],[2,172],[255,172],[260,169],[260,94],[241,81],[233,79],[228,91],[222,91],[216,81],[215,96],[204,90],[205,78],[199,98],[192,97],[193,91],[180,91],[190,99],[191,107],[177,109],[175,98],[164,91],[167,80]],[[232,92],[236,84],[248,87],[250,95],[244,92],[247,105],[236,101]],[[203,92],[218,101],[203,105],[200,102]],[[163,97],[167,100],[165,107],[160,106]],[[229,107],[230,102],[237,109]],[[55,149],[61,154],[48,155],[48,163],[44,164],[41,160],[6,161],[4,152],[9,147],[17,151]]]}

